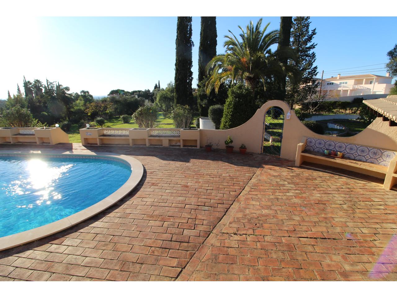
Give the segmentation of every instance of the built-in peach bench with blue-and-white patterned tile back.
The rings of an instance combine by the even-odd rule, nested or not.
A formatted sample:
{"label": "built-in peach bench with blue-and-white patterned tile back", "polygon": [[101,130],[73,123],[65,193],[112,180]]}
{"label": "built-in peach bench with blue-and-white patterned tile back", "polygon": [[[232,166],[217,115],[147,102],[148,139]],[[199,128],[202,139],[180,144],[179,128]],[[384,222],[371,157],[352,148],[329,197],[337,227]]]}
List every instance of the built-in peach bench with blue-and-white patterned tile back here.
{"label": "built-in peach bench with blue-and-white patterned tile back", "polygon": [[[324,155],[324,150],[343,153],[343,158]],[[383,187],[391,189],[397,184],[397,152],[362,145],[305,137],[298,144],[295,165],[304,161],[342,168],[384,180]]]}

